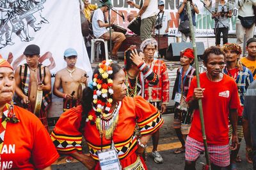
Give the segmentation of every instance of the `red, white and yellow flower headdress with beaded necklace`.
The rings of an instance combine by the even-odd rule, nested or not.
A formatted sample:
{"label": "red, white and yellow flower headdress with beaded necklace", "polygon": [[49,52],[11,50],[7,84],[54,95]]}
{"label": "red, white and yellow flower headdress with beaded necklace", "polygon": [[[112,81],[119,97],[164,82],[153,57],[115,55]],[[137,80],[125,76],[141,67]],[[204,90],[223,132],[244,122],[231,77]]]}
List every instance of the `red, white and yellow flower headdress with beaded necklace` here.
{"label": "red, white and yellow flower headdress with beaded necklace", "polygon": [[[93,75],[93,110],[95,110],[96,127],[100,136],[111,139],[118,122],[118,112],[120,110],[120,102],[116,103],[115,109],[109,113],[113,103],[113,69],[111,67],[112,60],[104,60],[99,64],[98,73]],[[93,115],[88,115],[88,120],[93,125]]]}

